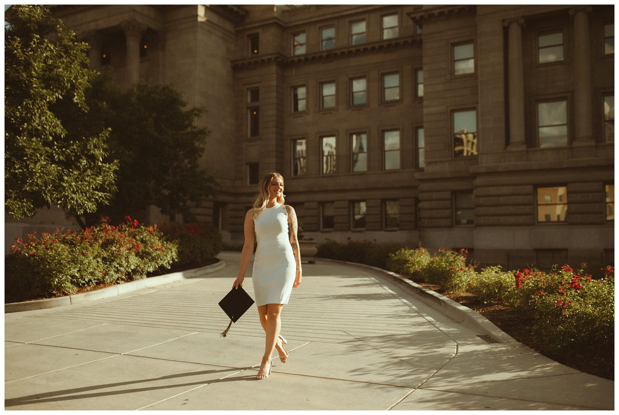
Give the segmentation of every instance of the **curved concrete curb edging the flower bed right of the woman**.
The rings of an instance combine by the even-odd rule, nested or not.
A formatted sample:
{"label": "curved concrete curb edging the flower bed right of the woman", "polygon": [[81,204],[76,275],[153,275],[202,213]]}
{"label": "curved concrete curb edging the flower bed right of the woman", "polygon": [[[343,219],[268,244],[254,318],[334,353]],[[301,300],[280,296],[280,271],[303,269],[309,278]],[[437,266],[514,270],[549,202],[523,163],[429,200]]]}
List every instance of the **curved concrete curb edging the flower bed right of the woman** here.
{"label": "curved concrete curb edging the flower bed right of the woman", "polygon": [[392,273],[391,271],[386,271],[385,269],[377,268],[375,266],[356,262],[330,260],[329,258],[319,259],[373,269],[374,271],[380,273],[387,281],[392,282],[401,289],[404,289],[404,291],[415,295],[415,297],[420,299],[424,304],[439,310],[439,312],[443,313],[457,323],[461,323],[462,325],[478,331],[478,334],[489,336],[498,343],[521,344],[519,341],[509,336],[509,334],[505,333],[503,330],[491,323],[490,320],[483,317],[480,313],[471,310],[469,307],[465,307],[464,305],[459,304],[448,297],[445,297],[443,294],[438,294],[438,292],[422,287],[417,284],[417,282],[410,281],[410,279],[399,274]]}

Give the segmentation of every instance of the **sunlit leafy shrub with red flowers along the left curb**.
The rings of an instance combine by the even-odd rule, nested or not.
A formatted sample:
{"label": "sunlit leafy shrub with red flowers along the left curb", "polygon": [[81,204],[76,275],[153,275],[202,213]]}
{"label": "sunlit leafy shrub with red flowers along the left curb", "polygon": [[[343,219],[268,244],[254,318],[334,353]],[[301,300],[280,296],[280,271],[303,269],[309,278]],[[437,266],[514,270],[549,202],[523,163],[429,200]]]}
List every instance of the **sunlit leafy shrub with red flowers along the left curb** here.
{"label": "sunlit leafy shrub with red flowers along the left curb", "polygon": [[6,295],[14,298],[51,297],[78,287],[141,279],[159,267],[170,268],[176,243],[162,240],[152,227],[126,223],[113,226],[107,218],[82,232],[56,229],[35,232],[27,242],[17,238],[5,258]]}

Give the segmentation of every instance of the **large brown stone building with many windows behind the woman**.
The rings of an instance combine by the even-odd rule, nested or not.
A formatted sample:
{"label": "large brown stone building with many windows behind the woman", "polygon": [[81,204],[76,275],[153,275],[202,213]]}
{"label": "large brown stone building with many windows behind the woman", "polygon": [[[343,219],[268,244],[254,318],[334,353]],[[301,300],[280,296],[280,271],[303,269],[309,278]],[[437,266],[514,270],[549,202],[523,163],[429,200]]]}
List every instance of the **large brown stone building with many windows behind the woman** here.
{"label": "large brown stone building with many windows behind the woman", "polygon": [[614,262],[612,5],[51,9],[120,84],[207,108],[223,186],[196,213],[228,243],[277,171],[319,242]]}

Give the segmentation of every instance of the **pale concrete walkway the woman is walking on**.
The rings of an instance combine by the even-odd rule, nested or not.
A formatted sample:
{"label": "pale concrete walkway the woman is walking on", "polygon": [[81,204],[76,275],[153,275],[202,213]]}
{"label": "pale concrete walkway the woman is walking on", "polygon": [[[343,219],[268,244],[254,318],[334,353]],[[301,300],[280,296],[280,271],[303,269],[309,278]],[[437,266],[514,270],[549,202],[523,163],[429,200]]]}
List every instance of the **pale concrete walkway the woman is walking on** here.
{"label": "pale concrete walkway the woman is walking on", "polygon": [[[284,306],[288,362],[254,380],[264,332],[254,305],[219,337],[240,253],[219,258],[204,278],[6,314],[5,408],[614,408],[614,382],[487,343],[378,271],[319,259]],[[254,296],[251,264],[243,287]]]}

